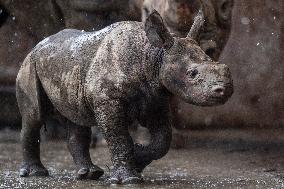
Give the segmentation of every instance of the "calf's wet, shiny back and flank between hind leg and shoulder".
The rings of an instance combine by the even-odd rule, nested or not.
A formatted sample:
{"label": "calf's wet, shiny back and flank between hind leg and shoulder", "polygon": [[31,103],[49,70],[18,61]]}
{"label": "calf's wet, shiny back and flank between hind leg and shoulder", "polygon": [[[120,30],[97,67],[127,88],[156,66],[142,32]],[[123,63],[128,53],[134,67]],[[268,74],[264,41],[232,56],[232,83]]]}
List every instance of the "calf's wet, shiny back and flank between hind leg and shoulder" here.
{"label": "calf's wet, shiny back and flank between hind leg and shoulder", "polygon": [[78,125],[95,123],[85,99],[85,76],[103,38],[119,23],[97,32],[66,29],[33,50],[42,87],[53,106]]}

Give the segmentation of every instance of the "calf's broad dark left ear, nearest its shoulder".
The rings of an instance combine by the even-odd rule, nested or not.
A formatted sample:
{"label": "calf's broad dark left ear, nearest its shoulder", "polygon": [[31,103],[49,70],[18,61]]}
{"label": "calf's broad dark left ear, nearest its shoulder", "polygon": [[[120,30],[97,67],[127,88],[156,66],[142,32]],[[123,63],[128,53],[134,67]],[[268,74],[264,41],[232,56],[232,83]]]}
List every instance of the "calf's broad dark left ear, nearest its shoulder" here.
{"label": "calf's broad dark left ear, nearest its shoulder", "polygon": [[145,32],[150,43],[155,47],[169,49],[174,43],[174,38],[167,30],[160,14],[153,10],[145,21]]}

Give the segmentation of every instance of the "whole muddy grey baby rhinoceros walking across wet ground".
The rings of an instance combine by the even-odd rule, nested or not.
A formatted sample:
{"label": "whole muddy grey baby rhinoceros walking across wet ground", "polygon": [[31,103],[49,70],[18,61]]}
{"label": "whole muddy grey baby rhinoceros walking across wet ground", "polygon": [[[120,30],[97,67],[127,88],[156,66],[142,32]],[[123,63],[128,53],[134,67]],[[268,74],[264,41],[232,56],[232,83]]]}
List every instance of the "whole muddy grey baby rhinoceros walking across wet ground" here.
{"label": "whole muddy grey baby rhinoceros walking across wet ground", "polygon": [[[109,182],[141,182],[143,169],[169,150],[172,96],[214,106],[233,93],[228,67],[213,62],[194,40],[202,15],[186,38],[173,37],[153,11],[144,24],[119,22],[96,32],[66,29],[40,42],[17,77],[20,176],[48,175],[40,160],[40,128],[57,114],[69,128],[68,149],[79,178],[96,180],[104,173],[89,153],[96,126],[111,153]],[[128,132],[133,122],[149,130],[148,145],[134,144]]]}

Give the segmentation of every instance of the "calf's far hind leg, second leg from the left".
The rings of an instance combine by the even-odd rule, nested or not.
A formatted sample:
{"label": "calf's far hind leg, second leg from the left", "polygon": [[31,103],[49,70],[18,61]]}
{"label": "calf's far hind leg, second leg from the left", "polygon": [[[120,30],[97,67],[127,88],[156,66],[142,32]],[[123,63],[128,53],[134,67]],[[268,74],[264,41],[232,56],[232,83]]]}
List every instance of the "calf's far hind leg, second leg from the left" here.
{"label": "calf's far hind leg, second leg from the left", "polygon": [[78,179],[99,179],[104,171],[92,163],[90,157],[91,128],[67,121],[68,149],[78,167]]}

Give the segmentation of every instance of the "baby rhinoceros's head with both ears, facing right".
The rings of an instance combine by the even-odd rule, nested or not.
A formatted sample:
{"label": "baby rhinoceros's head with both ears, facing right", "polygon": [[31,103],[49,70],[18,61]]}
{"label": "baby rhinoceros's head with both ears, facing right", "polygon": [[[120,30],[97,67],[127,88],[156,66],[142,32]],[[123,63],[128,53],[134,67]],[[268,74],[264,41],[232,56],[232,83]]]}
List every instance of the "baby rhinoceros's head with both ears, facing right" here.
{"label": "baby rhinoceros's head with both ears, facing right", "polygon": [[203,23],[199,11],[188,36],[173,37],[153,11],[145,21],[145,32],[149,42],[164,51],[159,77],[169,92],[191,104],[220,105],[233,94],[233,82],[228,66],[214,62],[195,41]]}

